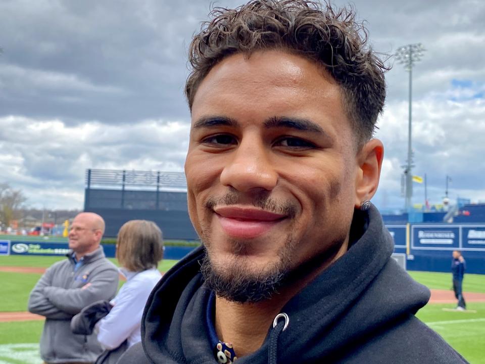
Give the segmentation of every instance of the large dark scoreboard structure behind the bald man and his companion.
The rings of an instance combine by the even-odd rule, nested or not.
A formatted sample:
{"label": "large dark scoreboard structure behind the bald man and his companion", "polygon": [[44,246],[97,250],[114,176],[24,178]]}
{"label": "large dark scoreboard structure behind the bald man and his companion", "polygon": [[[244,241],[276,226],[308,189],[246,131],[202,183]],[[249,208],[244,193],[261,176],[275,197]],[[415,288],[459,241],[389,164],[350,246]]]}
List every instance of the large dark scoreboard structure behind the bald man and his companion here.
{"label": "large dark scoreboard structure behind the bald man and his companion", "polygon": [[164,239],[198,239],[181,172],[87,169],[84,211],[105,219],[106,237],[116,237],[125,222],[142,219],[157,223]]}

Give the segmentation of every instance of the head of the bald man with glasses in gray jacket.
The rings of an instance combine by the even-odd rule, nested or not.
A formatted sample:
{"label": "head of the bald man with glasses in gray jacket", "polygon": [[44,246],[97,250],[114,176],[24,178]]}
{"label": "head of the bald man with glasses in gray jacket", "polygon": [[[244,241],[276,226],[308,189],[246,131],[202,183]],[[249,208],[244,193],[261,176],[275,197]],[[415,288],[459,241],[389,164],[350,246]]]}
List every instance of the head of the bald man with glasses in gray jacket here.
{"label": "head of the bald man with glasses in gray jacket", "polygon": [[77,215],[69,230],[69,248],[76,253],[86,253],[98,244],[101,231],[92,218],[85,214]]}

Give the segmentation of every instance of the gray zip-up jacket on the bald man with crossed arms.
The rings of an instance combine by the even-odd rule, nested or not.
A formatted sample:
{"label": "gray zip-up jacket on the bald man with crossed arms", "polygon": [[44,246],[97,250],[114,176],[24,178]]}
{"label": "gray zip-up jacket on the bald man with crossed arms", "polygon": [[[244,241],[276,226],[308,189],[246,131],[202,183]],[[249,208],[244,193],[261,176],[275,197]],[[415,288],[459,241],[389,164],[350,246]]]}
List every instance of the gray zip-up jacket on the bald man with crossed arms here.
{"label": "gray zip-up jacket on the bald man with crossed arms", "polygon": [[72,252],[67,257],[47,268],[30,293],[29,311],[45,316],[40,356],[47,363],[94,362],[103,352],[96,335],[73,334],[71,318],[85,306],[115,296],[118,268],[101,246],[86,254],[77,270]]}

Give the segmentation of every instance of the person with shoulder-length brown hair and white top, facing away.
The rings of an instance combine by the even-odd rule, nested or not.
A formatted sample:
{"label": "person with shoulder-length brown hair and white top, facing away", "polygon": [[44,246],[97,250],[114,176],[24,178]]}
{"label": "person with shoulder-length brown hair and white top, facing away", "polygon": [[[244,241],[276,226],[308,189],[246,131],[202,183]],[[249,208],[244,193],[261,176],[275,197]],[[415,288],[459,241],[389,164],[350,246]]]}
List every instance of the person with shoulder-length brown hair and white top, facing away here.
{"label": "person with shoulder-length brown hair and white top, facing away", "polygon": [[[96,364],[116,363],[127,348],[141,340],[143,308],[153,287],[162,278],[157,269],[163,258],[162,232],[153,221],[126,222],[118,233],[116,258],[126,283],[111,302],[93,303],[71,321],[73,332],[94,328],[98,333],[98,341],[105,351]],[[111,304],[108,309],[107,304]],[[93,315],[93,310],[107,314],[100,320],[97,314]]]}

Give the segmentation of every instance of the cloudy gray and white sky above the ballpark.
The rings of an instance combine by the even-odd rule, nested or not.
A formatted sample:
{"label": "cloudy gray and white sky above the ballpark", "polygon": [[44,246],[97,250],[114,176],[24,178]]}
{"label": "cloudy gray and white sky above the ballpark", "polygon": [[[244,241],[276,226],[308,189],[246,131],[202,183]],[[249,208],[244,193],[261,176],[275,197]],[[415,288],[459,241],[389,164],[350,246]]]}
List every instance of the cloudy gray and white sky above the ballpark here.
{"label": "cloudy gray and white sky above the ballpark", "polygon": [[[219,0],[233,7],[240,1]],[[333,2],[337,6],[345,2]],[[426,48],[413,70],[414,174],[440,203],[485,200],[485,2],[356,0],[374,50]],[[208,0],[0,1],[0,183],[38,208],[82,208],[87,168],[182,171],[186,49]],[[401,208],[408,73],[386,74],[381,209]],[[414,203],[424,188],[414,185]]]}

